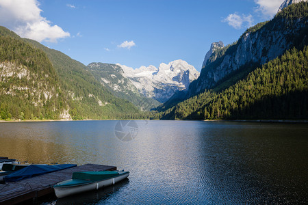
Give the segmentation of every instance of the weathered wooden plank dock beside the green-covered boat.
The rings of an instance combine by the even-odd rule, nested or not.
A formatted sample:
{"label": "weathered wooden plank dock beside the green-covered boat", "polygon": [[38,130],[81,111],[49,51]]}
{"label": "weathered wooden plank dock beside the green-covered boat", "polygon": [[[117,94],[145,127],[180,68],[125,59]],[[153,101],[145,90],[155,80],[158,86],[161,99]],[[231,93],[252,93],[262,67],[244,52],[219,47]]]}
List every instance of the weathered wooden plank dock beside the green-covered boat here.
{"label": "weathered wooden plank dock beside the green-covered boat", "polygon": [[53,185],[72,178],[73,172],[116,170],[106,165],[86,164],[78,167],[51,172],[18,182],[0,184],[0,204],[18,204],[54,193]]}

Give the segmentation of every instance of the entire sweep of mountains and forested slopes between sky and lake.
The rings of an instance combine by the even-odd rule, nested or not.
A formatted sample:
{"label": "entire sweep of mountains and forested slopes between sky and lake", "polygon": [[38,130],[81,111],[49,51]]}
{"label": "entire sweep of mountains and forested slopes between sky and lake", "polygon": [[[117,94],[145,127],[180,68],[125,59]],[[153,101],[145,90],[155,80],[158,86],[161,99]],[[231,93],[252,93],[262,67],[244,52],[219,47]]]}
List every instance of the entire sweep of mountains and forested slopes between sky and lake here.
{"label": "entire sweep of mountains and forested slopes between sky and lake", "polygon": [[239,40],[214,42],[201,72],[181,59],[81,64],[0,28],[1,120],[305,120],[307,2]]}

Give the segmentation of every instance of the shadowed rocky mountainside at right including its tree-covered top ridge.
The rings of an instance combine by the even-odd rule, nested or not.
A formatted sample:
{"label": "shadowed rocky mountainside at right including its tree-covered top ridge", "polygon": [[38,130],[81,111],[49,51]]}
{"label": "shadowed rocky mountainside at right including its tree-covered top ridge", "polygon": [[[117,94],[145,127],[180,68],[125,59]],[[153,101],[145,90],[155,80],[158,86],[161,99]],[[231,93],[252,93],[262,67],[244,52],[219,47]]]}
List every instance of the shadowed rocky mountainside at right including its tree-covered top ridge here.
{"label": "shadowed rocky mountainside at right including its tree-covered top ridge", "polygon": [[294,46],[303,49],[308,43],[307,14],[307,2],[292,4],[272,20],[247,29],[237,42],[214,51],[190,84],[188,97],[217,86],[225,89]]}

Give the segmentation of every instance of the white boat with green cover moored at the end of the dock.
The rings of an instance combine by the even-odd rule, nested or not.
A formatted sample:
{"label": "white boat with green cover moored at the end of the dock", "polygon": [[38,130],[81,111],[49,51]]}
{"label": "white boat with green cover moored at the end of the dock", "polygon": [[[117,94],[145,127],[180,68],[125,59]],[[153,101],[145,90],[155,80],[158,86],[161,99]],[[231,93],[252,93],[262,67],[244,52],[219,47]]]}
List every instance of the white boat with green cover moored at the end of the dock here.
{"label": "white boat with green cover moored at the end of the dock", "polygon": [[123,171],[73,172],[72,179],[53,186],[58,198],[107,187],[129,176]]}

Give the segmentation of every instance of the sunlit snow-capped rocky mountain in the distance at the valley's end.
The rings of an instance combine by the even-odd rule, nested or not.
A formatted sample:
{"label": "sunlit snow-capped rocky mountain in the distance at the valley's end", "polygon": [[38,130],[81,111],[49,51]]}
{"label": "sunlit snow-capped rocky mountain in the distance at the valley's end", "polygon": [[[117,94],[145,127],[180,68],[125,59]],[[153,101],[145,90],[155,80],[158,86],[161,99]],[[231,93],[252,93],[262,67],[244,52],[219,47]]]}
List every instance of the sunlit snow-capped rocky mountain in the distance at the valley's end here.
{"label": "sunlit snow-capped rocky mountain in the distance at the valley's end", "polygon": [[190,83],[198,78],[199,72],[186,61],[181,59],[171,61],[169,64],[155,66],[141,66],[130,68],[117,64],[123,69],[127,77],[139,92],[148,98],[165,102],[175,92],[187,90]]}

